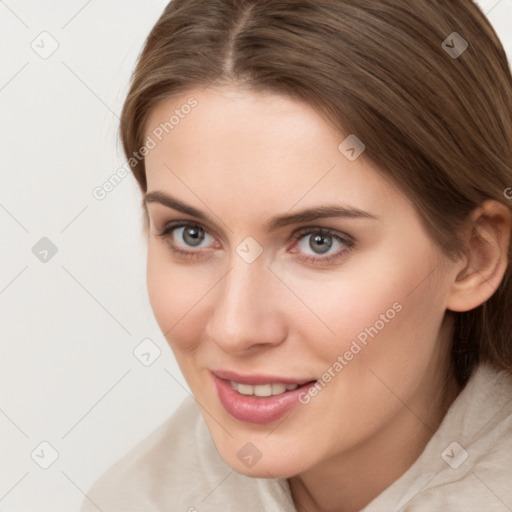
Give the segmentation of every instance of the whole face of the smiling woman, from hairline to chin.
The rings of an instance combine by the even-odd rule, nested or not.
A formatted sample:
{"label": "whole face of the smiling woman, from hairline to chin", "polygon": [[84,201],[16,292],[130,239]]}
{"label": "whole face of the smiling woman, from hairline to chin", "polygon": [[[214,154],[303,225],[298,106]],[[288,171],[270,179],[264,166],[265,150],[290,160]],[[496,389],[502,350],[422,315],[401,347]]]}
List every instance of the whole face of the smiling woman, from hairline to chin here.
{"label": "whole face of the smiling woman, from hairline to chin", "polygon": [[290,477],[424,430],[455,270],[361,146],[242,89],[146,128],[149,297],[226,462]]}

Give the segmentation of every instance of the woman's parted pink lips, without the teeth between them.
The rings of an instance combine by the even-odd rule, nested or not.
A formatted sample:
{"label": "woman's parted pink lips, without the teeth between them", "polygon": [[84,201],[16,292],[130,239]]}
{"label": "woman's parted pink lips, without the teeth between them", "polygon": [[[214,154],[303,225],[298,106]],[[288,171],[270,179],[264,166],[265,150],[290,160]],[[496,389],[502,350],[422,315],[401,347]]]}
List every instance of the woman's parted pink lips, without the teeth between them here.
{"label": "woman's parted pink lips, without the teeth between them", "polygon": [[[229,377],[221,378],[219,375],[221,373],[223,376],[229,375]],[[217,395],[226,412],[239,421],[254,425],[265,425],[284,417],[299,404],[301,393],[307,392],[309,386],[316,382],[315,380],[301,381],[261,375],[241,376],[232,372],[212,372],[212,376],[217,389]],[[298,384],[300,387],[280,395],[256,397],[242,395],[234,390],[229,383],[230,380],[253,386],[281,382],[283,384]]]}

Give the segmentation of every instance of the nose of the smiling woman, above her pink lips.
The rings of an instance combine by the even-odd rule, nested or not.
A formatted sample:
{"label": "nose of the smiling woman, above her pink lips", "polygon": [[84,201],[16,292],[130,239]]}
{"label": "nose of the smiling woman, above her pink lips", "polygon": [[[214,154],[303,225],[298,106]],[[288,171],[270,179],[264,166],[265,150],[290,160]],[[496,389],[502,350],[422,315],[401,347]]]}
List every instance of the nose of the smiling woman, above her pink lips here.
{"label": "nose of the smiling woman, above her pink lips", "polygon": [[287,328],[278,280],[263,261],[234,258],[212,297],[206,336],[232,354],[279,345],[286,339]]}

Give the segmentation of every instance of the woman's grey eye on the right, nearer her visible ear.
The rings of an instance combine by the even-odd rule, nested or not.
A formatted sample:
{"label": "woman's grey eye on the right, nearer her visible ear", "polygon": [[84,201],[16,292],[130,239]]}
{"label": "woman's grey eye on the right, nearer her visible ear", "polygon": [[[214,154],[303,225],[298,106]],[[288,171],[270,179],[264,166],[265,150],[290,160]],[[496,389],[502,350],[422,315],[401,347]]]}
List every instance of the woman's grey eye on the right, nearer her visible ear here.
{"label": "woman's grey eye on the right, nearer her visible ear", "polygon": [[343,256],[355,244],[345,233],[326,228],[305,228],[294,233],[297,242],[291,252],[301,252],[305,260],[326,262]]}

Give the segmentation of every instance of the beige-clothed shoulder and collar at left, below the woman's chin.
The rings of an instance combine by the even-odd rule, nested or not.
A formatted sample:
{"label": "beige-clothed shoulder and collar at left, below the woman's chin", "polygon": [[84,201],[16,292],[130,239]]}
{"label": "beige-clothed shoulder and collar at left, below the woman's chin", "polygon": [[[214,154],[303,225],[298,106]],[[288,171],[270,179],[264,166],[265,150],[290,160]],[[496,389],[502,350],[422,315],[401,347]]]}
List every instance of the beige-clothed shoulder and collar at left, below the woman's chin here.
{"label": "beige-clothed shoulder and collar at left, below the woman's chin", "polygon": [[107,470],[81,512],[294,510],[285,481],[249,478],[219,455],[193,398]]}

